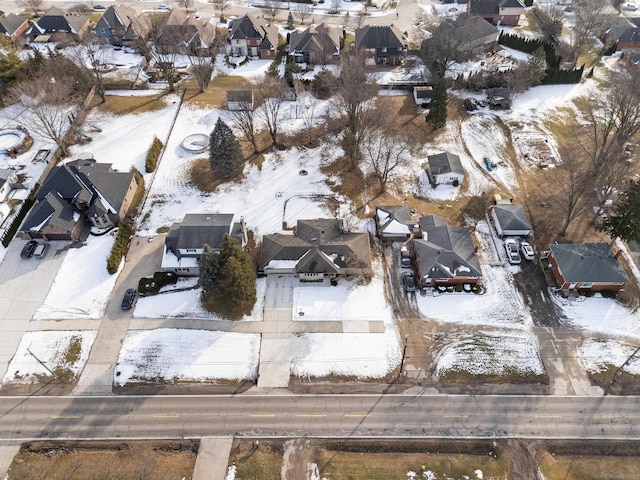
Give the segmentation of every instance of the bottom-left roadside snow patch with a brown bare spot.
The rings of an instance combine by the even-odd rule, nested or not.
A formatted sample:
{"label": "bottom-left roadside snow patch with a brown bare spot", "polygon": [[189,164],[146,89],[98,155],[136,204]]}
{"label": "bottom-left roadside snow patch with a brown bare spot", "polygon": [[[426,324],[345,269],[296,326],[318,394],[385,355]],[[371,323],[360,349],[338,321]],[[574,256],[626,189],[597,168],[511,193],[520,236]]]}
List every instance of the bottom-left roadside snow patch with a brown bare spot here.
{"label": "bottom-left roadside snow patch with a brown bare spot", "polygon": [[26,332],[2,383],[35,383],[38,377],[51,377],[49,370],[58,375],[71,372],[78,376],[97,333],[96,330]]}

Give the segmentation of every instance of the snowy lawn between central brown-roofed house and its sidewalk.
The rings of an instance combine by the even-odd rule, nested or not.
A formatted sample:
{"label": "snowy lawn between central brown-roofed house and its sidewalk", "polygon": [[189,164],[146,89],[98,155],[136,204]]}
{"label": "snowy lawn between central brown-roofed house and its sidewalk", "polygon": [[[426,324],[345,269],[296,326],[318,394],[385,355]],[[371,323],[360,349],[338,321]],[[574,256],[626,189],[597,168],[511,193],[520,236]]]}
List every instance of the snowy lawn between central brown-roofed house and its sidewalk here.
{"label": "snowy lawn between central brown-roofed house and its sidewalk", "polygon": [[392,313],[384,296],[384,285],[378,277],[368,285],[341,282],[333,287],[297,287],[293,290],[293,320],[383,320],[392,321]]}

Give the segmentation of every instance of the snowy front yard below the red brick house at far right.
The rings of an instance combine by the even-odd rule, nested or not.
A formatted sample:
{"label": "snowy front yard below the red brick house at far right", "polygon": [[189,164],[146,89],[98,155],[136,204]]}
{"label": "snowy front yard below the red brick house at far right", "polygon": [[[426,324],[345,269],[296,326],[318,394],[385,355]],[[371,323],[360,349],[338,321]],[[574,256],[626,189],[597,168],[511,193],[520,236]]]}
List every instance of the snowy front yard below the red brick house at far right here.
{"label": "snowy front yard below the red brick house at far right", "polygon": [[593,297],[564,298],[552,293],[551,298],[573,326],[606,335],[633,336],[640,339],[640,312],[632,312],[599,293]]}

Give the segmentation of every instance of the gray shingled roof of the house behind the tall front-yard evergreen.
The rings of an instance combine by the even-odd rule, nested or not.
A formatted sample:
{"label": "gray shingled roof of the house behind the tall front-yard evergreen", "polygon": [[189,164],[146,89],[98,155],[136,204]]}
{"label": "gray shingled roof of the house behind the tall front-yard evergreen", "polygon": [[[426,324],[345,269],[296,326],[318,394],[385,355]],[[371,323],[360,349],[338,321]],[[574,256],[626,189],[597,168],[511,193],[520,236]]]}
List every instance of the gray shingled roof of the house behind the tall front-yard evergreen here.
{"label": "gray shingled roof of the house behind the tall front-yard evergreen", "polygon": [[220,248],[225,235],[232,233],[233,214],[187,214],[180,223],[174,223],[165,239],[167,250],[176,253],[181,249],[202,248],[207,244]]}

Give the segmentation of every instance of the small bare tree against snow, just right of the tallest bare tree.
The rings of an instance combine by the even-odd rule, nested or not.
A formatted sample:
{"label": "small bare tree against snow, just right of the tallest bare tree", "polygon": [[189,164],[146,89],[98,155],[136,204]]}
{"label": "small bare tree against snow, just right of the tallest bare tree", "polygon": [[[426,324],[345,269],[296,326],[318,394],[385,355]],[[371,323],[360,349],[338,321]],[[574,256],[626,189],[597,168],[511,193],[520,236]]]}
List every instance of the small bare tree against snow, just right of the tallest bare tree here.
{"label": "small bare tree against snow, just right of the tallest bare tree", "polygon": [[411,160],[406,141],[388,129],[375,130],[363,142],[364,163],[378,180],[379,193],[386,191],[391,173]]}

